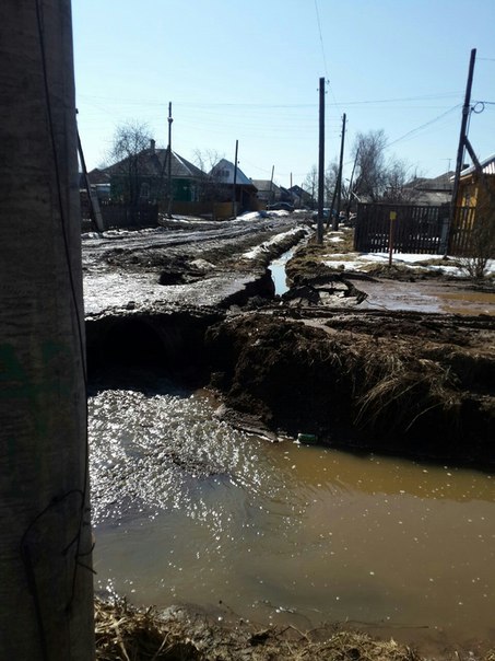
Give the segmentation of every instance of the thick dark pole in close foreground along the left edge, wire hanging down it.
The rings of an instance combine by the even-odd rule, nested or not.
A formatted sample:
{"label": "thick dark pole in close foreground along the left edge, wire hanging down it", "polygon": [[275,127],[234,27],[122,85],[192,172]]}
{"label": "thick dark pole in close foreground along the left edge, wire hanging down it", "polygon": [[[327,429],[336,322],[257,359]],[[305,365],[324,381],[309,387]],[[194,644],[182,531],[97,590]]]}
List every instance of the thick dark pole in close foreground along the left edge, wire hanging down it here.
{"label": "thick dark pole in close foreground along the left edge, wire hanging down it", "polygon": [[0,659],[94,659],[70,0],[0,2]]}

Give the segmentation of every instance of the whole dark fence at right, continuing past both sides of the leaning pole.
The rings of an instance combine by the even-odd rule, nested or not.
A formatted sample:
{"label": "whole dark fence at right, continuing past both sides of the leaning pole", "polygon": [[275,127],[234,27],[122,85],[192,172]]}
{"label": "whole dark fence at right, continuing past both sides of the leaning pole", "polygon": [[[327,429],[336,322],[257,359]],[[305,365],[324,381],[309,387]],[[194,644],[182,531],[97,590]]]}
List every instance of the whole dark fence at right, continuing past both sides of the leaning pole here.
{"label": "whole dark fence at right, continuing past both sides of the leaning pole", "polygon": [[469,250],[474,208],[458,207],[451,228],[449,206],[360,204],[354,248],[362,253],[463,255]]}

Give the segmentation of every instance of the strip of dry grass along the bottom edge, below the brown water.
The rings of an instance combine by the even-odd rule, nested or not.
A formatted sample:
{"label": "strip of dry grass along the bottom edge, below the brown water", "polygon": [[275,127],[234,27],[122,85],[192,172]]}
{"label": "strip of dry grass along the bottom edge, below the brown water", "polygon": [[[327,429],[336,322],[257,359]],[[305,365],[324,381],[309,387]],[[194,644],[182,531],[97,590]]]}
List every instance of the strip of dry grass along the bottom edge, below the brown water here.
{"label": "strip of dry grass along the bottom edge, below the brown water", "polygon": [[97,661],[421,661],[392,639],[375,640],[334,625],[305,633],[241,619],[220,626],[181,608],[140,611],[126,601],[101,600],[95,619]]}

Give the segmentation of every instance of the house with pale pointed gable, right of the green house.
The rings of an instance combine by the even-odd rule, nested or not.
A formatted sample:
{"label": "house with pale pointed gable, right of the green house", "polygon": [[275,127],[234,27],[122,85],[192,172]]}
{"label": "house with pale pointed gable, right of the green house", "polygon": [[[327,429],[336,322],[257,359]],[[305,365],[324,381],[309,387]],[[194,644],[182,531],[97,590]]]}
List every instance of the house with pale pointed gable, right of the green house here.
{"label": "house with pale pointed gable, right of the green house", "polygon": [[211,170],[209,176],[216,184],[216,201],[231,205],[235,201],[236,213],[258,210],[257,187],[240,167],[235,167],[234,163],[222,159]]}

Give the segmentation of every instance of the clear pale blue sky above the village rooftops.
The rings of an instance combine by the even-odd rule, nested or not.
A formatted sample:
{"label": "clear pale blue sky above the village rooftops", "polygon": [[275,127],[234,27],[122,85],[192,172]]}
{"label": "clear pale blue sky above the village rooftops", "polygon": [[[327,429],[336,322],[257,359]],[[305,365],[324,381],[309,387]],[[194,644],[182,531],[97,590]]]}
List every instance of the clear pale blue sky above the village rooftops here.
{"label": "clear pale blue sky above the village rooftops", "polygon": [[[476,48],[470,141],[495,152],[495,0],[73,0],[79,130],[89,169],[108,162],[118,125],[146,124],[195,162],[238,161],[251,178],[300,184],[318,162],[352,169],[357,132],[384,129],[412,174],[455,167],[469,59]],[[469,161],[469,158],[467,159]]]}

